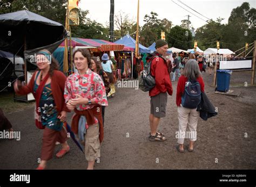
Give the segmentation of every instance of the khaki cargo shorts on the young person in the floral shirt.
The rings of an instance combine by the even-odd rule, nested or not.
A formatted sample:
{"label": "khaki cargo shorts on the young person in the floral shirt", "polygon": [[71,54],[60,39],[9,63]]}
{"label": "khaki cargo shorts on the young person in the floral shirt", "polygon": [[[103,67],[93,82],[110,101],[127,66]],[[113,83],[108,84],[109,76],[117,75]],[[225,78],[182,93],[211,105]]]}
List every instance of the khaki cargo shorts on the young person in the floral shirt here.
{"label": "khaki cargo shorts on the young person in the floral shirt", "polygon": [[85,159],[87,161],[95,161],[100,157],[99,143],[99,123],[89,125],[84,136],[85,139]]}

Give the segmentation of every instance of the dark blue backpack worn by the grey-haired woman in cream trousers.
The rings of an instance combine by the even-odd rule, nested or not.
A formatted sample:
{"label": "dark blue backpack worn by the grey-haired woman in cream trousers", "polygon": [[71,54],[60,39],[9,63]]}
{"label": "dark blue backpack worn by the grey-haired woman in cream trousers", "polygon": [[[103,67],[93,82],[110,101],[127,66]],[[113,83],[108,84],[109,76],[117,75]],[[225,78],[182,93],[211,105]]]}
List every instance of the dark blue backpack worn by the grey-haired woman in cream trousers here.
{"label": "dark blue backpack worn by the grey-haired woman in cream trousers", "polygon": [[196,109],[201,101],[201,87],[199,82],[188,80],[181,97],[181,105],[188,109]]}

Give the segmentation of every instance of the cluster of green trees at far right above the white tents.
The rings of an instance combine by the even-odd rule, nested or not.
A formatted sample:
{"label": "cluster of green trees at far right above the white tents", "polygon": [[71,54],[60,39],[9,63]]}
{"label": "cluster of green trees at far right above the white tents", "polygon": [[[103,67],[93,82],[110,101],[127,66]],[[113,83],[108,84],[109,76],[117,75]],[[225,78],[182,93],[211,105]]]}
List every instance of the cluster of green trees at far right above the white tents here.
{"label": "cluster of green trees at far right above the white tents", "polygon": [[219,40],[220,48],[237,51],[245,46],[245,42],[250,44],[256,39],[255,18],[256,9],[250,9],[247,2],[242,3],[232,10],[227,24],[221,24],[223,18],[217,18],[216,21],[208,21],[197,28],[195,39],[198,41],[198,47],[202,50],[216,48],[216,42],[209,42]]}

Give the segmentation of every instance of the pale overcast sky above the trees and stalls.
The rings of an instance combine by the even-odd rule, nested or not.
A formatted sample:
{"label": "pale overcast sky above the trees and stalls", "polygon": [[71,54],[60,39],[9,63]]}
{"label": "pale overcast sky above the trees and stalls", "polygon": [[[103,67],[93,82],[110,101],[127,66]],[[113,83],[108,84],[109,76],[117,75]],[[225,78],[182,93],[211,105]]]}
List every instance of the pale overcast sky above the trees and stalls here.
{"label": "pale overcast sky above the trees and stalls", "polygon": [[[187,6],[178,2],[178,0],[173,0],[175,3],[179,4],[186,10],[187,12],[177,4],[173,3],[172,0],[140,0],[140,11],[139,11],[139,25],[142,26],[144,24],[144,16],[150,15],[150,12],[157,12],[159,19],[168,19],[172,21],[173,25],[180,25],[181,20],[187,19],[186,15],[190,15],[190,21],[194,28],[198,28],[206,24],[204,20],[207,18],[215,20],[218,17],[225,18],[222,23],[227,23],[228,17],[230,17],[230,13],[232,9],[237,8],[243,2],[250,3],[250,7],[256,8],[255,0],[224,0],[224,1],[210,1],[210,0],[180,0],[181,2],[188,5],[190,8],[196,10],[201,13],[201,15],[207,17],[203,17],[198,13],[194,12]],[[137,4],[138,0],[114,0],[114,13],[122,11],[127,13],[131,19],[134,21],[137,20]],[[79,7],[82,10],[89,10],[90,19],[96,20],[98,23],[106,25],[106,22],[109,22],[110,16],[110,0],[80,0]],[[200,17],[196,17],[196,16]],[[202,20],[204,19],[204,20]],[[116,27],[115,27],[116,29]]]}

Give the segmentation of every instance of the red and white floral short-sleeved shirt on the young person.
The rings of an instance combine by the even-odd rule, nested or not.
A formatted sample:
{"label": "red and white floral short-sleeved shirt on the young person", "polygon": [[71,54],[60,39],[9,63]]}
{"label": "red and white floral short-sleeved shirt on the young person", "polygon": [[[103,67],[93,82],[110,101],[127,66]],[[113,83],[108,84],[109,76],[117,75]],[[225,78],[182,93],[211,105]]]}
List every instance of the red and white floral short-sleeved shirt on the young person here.
{"label": "red and white floral short-sleeved shirt on the young person", "polygon": [[[64,90],[65,102],[68,103],[70,99],[76,98],[75,94],[94,99],[98,105],[107,106],[106,91],[102,78],[90,69],[84,75],[75,73],[67,78]],[[95,105],[77,105],[76,109],[83,111],[92,109],[93,106]]]}

